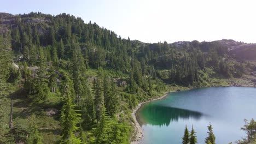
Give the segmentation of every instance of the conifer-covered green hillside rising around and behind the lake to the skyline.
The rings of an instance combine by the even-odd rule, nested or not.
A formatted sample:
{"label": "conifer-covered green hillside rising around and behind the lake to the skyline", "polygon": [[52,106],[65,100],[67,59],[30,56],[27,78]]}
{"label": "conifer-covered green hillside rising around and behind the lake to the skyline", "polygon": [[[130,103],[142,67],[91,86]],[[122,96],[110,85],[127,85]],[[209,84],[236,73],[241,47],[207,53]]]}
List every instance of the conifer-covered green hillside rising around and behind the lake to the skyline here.
{"label": "conifer-covered green hillside rising around and behind the lake to the skyline", "polygon": [[254,44],[234,40],[149,44],[42,13],[0,13],[0,34],[0,143],[129,143],[142,101],[256,82]]}

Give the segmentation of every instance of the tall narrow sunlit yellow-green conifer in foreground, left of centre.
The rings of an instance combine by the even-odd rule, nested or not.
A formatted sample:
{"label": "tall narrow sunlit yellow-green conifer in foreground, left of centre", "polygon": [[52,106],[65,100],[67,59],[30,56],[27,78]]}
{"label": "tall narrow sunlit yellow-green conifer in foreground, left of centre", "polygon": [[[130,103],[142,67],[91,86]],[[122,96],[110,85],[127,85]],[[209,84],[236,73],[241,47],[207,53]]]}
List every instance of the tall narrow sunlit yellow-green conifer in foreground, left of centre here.
{"label": "tall narrow sunlit yellow-green conifer in foreground, left of centre", "polygon": [[76,126],[80,121],[80,114],[74,109],[75,105],[72,103],[71,91],[72,86],[66,85],[63,89],[63,106],[61,109],[61,140],[60,143],[81,143],[81,140],[75,137],[74,132],[78,130]]}

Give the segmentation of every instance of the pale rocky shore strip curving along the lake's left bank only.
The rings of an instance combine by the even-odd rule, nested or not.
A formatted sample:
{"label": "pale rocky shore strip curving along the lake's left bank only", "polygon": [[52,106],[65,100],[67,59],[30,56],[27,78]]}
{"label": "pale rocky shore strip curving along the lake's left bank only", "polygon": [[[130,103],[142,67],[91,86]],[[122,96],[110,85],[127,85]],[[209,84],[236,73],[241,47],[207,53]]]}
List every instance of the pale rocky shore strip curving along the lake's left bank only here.
{"label": "pale rocky shore strip curving along the lake's left bank only", "polygon": [[[175,92],[175,91],[170,91],[170,92]],[[134,121],[135,121],[135,133],[136,133],[136,138],[135,138],[135,140],[131,141],[131,144],[139,144],[139,143],[143,140],[143,129],[141,128],[141,125],[139,125],[135,113],[138,111],[138,109],[139,109],[143,104],[150,103],[151,101],[163,99],[163,98],[167,97],[168,93],[170,93],[170,92],[166,92],[164,95],[162,95],[162,97],[155,98],[155,99],[152,99],[152,100],[148,100],[148,101],[144,101],[144,102],[142,102],[142,103],[139,103],[139,104],[137,105],[137,107],[132,111],[131,115],[132,115],[132,118],[133,118]]]}

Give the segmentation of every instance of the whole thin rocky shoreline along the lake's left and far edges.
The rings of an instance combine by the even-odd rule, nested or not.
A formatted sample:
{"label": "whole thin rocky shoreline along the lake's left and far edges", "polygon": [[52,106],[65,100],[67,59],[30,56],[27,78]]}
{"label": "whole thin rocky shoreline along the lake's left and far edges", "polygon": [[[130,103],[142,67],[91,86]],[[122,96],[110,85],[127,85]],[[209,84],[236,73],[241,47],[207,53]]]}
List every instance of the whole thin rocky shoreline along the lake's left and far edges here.
{"label": "whole thin rocky shoreline along the lake's left and far edges", "polygon": [[[254,87],[255,86],[215,86],[215,87]],[[188,89],[182,89],[180,91],[189,91],[191,89],[194,89],[194,88],[188,88]],[[136,138],[134,140],[131,141],[131,144],[140,144],[141,141],[143,140],[143,129],[141,128],[141,125],[139,125],[138,121],[137,121],[137,117],[135,115],[135,113],[138,111],[139,108],[141,108],[141,106],[143,104],[146,104],[146,103],[150,103],[152,101],[155,101],[155,100],[160,100],[160,99],[163,99],[165,97],[167,97],[168,93],[171,93],[171,92],[178,92],[177,90],[176,91],[169,91],[169,92],[165,92],[164,95],[162,95],[161,97],[159,98],[155,98],[155,99],[152,99],[152,100],[148,100],[148,101],[144,101],[142,103],[139,103],[137,105],[137,107],[135,109],[133,109],[132,113],[131,113],[131,116],[133,118],[133,120],[135,121],[135,133],[136,133]]]}

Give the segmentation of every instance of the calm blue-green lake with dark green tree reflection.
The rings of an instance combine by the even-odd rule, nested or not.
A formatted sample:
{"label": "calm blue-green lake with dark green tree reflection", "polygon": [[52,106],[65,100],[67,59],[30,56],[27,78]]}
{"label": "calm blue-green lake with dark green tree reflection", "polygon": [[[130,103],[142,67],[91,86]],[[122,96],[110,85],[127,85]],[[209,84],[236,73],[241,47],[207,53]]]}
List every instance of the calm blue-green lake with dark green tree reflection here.
{"label": "calm blue-green lake with dark green tree reflection", "polygon": [[185,125],[193,125],[198,143],[205,143],[210,123],[217,144],[245,136],[244,119],[256,118],[256,88],[210,87],[171,92],[144,104],[136,113],[143,129],[142,144],[182,143]]}

